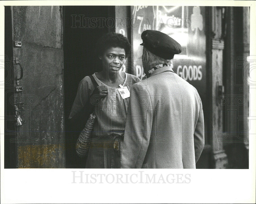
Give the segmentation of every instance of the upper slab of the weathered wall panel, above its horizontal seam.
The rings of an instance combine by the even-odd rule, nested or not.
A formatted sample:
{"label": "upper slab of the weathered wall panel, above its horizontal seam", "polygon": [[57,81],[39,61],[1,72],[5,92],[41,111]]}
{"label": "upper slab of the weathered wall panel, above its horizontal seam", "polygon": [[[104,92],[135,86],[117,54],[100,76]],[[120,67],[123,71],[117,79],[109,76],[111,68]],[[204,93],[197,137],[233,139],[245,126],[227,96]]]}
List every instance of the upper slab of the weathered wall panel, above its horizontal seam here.
{"label": "upper slab of the weathered wall panel, above its horizontal seam", "polygon": [[14,40],[62,48],[60,6],[14,6]]}

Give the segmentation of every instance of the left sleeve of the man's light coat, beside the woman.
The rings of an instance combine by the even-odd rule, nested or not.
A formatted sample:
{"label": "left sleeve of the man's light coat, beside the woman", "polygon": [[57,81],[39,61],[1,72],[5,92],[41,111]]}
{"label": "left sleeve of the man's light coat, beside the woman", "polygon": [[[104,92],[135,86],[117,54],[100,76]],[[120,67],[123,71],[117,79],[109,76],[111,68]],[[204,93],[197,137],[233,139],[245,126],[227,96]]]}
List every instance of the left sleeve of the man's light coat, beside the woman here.
{"label": "left sleeve of the man's light coat, beside the woman", "polygon": [[121,168],[142,167],[150,141],[152,118],[150,94],[143,86],[132,86],[126,117]]}

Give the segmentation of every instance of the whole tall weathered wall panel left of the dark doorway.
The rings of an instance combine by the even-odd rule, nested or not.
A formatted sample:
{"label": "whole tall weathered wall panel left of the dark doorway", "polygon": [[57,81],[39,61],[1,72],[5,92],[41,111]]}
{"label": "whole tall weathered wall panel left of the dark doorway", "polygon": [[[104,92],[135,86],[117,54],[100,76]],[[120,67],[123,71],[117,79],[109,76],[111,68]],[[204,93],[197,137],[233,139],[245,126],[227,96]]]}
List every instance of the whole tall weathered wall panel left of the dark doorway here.
{"label": "whole tall weathered wall panel left of the dark doorway", "polygon": [[[17,127],[18,168],[64,168],[62,16],[59,6],[14,6],[13,47],[23,67],[16,93],[24,102]],[[20,71],[16,68],[15,76]],[[15,84],[16,86],[16,84]]]}

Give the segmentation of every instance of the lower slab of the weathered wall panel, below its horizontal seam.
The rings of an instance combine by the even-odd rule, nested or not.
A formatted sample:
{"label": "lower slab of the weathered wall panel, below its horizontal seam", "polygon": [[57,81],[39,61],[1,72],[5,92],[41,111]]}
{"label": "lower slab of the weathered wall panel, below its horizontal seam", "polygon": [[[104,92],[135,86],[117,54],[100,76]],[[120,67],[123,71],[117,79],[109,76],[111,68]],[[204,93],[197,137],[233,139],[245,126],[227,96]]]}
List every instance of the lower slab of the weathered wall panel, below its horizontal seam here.
{"label": "lower slab of the weathered wall panel, below its horizontal seam", "polygon": [[[23,139],[27,141],[31,141],[31,138],[37,139],[33,143],[18,142],[18,166],[43,167],[41,166],[45,163],[43,160],[47,161],[47,166],[54,166],[51,162],[65,161],[63,51],[26,42],[22,47],[14,49],[14,56],[20,59],[23,66],[22,100],[29,114],[29,117],[23,116],[23,124],[29,123],[26,125],[28,127],[26,131],[29,132]],[[29,101],[31,97],[34,98],[34,103]],[[40,150],[46,147],[54,148],[56,151],[50,156],[52,160],[49,160],[48,153]],[[38,155],[36,158],[48,156],[35,163],[34,153],[25,153],[28,148]]]}

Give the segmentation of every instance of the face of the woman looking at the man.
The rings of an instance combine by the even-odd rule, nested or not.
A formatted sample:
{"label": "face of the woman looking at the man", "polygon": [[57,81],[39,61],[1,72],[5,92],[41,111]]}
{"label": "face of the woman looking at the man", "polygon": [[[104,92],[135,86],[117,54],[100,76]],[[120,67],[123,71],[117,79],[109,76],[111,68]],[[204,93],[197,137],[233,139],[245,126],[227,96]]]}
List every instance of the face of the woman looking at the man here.
{"label": "face of the woman looking at the man", "polygon": [[103,71],[115,74],[125,63],[125,50],[121,47],[109,47],[100,59],[102,59]]}

